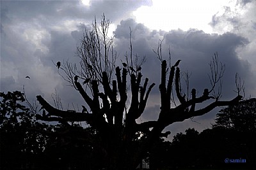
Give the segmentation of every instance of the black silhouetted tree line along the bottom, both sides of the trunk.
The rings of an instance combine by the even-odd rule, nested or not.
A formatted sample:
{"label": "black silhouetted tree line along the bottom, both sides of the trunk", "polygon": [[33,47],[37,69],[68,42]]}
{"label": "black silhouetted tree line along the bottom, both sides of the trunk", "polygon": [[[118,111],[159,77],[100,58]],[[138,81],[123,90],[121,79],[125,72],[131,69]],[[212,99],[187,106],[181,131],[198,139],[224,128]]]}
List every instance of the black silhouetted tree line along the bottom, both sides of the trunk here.
{"label": "black silhouetted tree line along the bottom, both sides of the trunk", "polygon": [[[102,150],[84,140],[100,138],[95,129],[36,121],[22,92],[1,92],[0,97],[1,169],[104,168]],[[255,167],[255,122],[256,99],[244,100],[220,110],[211,129],[199,133],[189,128],[172,141],[159,138],[143,159],[150,169],[250,169]],[[143,141],[140,137],[134,139],[134,148]],[[246,162],[227,164],[227,158]]]}

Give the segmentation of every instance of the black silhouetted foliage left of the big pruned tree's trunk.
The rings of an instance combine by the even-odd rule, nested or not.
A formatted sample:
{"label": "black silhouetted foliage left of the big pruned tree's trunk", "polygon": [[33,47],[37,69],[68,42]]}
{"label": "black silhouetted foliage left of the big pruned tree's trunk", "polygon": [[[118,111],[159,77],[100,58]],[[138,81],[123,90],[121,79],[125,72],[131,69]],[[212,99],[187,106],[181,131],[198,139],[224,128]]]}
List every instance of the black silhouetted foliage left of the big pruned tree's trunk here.
{"label": "black silhouetted foliage left of the big pruned tree's trunk", "polygon": [[[83,138],[95,134],[79,125],[41,124],[19,91],[0,92],[0,169],[99,169],[102,155]],[[97,139],[97,136],[93,136]]]}

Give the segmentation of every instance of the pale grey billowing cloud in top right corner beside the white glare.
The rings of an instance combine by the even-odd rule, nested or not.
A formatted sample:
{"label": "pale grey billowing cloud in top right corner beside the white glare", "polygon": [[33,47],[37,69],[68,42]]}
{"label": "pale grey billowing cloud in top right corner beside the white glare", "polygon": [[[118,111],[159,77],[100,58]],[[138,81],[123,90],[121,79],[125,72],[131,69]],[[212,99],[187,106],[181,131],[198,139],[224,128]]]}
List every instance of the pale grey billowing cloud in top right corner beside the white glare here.
{"label": "pale grey billowing cloud in top right corner beside the white glare", "polygon": [[223,11],[212,16],[211,25],[216,32],[230,31],[248,39],[244,48],[237,48],[239,57],[246,59],[256,71],[256,8],[255,1],[237,1],[236,6],[225,6]]}

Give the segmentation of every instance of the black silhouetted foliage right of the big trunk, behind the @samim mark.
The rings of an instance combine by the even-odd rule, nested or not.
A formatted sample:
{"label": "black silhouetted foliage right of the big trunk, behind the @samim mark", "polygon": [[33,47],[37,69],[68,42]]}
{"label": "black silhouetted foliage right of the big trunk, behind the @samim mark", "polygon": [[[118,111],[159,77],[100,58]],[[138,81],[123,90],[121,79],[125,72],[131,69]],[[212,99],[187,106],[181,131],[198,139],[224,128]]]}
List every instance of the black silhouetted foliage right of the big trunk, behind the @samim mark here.
{"label": "black silhouetted foliage right of the big trunk, behind the @samim mark", "polygon": [[[187,129],[186,134],[177,133],[172,143],[159,142],[150,150],[150,165],[154,169],[253,169],[256,166],[255,103],[253,98],[223,108],[212,129],[200,134]],[[246,162],[227,164],[227,158]]]}

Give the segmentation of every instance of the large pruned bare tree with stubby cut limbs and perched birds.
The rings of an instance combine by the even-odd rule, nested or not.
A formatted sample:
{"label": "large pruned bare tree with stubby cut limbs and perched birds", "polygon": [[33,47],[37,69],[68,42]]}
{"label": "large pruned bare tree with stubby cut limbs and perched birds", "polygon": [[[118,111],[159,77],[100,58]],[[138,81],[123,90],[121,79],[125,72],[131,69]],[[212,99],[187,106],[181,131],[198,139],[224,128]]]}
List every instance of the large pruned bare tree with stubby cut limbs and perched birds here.
{"label": "large pruned bare tree with stubby cut limbs and perched birds", "polygon": [[[204,92],[191,89],[191,96],[186,96],[181,88],[179,63],[173,66],[170,64],[168,69],[167,62],[161,55],[161,48],[158,48],[157,55],[161,60],[159,117],[155,121],[138,124],[136,119],[144,112],[150,91],[156,84],[152,83],[148,87],[148,78],[145,78],[144,82],[141,80],[143,60],[138,62],[136,55],[134,59],[132,43],[130,56],[126,55],[126,63],[122,64],[122,68],[115,66],[116,52],[112,46],[113,39],[107,36],[109,24],[109,20],[104,16],[99,23],[94,20],[92,30],[85,31],[81,46],[77,48],[77,56],[81,59],[79,66],[65,62],[60,67],[60,71],[65,73],[65,76],[62,75],[63,78],[81,94],[88,111],[81,113],[60,110],[47,103],[42,96],[36,96],[47,111],[47,115],[38,115],[38,119],[58,121],[66,125],[69,124],[68,122],[85,121],[95,129],[98,138],[86,134],[84,140],[91,143],[93,148],[97,148],[98,154],[102,155],[102,167],[134,169],[145,157],[150,146],[161,136],[170,134],[170,132],[162,133],[168,125],[204,115],[217,106],[235,104],[242,99],[242,96],[237,94],[237,97],[230,101],[220,101],[221,89],[218,89],[218,84],[221,84],[225,66],[218,61],[218,54],[212,57],[210,63],[211,87]],[[129,85],[127,85],[127,77],[130,79]],[[89,87],[90,92],[86,87]],[[131,87],[129,91],[131,101],[128,101],[127,97],[129,87]],[[201,95],[197,96],[197,94]],[[174,95],[177,96],[179,104],[173,107],[171,103]],[[212,100],[211,104],[196,110],[196,104],[210,100]],[[144,136],[140,143],[136,142],[138,134]]]}

